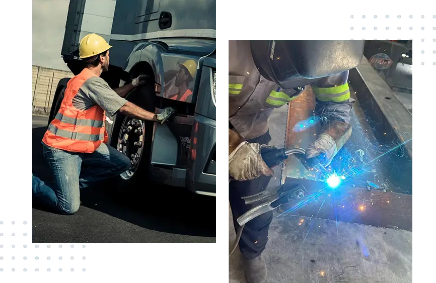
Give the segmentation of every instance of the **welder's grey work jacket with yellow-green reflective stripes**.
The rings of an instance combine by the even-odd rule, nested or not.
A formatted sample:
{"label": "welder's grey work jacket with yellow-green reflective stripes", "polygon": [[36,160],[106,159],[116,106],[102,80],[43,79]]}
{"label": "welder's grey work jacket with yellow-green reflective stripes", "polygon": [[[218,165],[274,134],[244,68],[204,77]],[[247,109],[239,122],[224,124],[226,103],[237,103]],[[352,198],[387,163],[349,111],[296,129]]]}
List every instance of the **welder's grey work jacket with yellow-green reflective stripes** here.
{"label": "welder's grey work jacket with yellow-green reflective stripes", "polygon": [[[257,138],[268,131],[272,111],[295,99],[301,91],[281,89],[265,79],[253,61],[249,41],[228,41],[227,54],[229,121],[245,139]],[[355,101],[350,99],[347,78],[348,72],[330,76],[324,79],[323,87],[313,84],[319,80],[302,79],[300,90],[311,84],[317,104],[320,104],[318,107],[325,108],[330,117],[336,115],[348,122]]]}

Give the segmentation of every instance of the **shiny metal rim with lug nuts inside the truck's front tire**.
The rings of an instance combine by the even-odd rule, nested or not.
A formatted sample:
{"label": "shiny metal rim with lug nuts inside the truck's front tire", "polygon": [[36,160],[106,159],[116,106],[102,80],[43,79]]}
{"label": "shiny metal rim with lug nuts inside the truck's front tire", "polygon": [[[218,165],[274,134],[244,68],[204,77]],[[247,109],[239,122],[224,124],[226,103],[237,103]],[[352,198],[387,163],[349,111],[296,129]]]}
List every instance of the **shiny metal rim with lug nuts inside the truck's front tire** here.
{"label": "shiny metal rim with lug nuts inside the truck's front tire", "polygon": [[132,164],[130,169],[120,174],[121,178],[130,179],[136,172],[144,144],[144,122],[126,117],[118,136],[118,151],[126,155]]}

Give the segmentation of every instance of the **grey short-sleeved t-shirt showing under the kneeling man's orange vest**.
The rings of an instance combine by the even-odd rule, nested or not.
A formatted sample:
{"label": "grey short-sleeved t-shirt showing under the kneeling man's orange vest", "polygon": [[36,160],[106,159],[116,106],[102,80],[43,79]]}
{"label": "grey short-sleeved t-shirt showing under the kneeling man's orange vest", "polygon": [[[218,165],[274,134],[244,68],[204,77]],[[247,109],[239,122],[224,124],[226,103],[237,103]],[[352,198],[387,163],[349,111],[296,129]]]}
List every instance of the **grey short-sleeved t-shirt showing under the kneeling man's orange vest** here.
{"label": "grey short-sleeved t-shirt showing under the kneeling man's orange vest", "polygon": [[117,95],[107,82],[98,76],[87,79],[72,99],[72,105],[79,110],[87,110],[98,105],[109,116],[114,116],[126,103],[127,100]]}

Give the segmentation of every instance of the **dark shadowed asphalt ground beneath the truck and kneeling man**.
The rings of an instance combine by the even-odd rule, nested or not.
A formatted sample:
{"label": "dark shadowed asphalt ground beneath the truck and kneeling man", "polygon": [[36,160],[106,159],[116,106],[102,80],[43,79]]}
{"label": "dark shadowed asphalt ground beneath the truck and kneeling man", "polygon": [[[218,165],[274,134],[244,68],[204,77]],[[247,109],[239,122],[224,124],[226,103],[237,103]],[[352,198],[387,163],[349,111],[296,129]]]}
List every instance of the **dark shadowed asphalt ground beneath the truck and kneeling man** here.
{"label": "dark shadowed asphalt ground beneath the truck and kneeling man", "polygon": [[[32,172],[51,184],[42,156],[47,117],[32,117]],[[33,207],[34,243],[91,245],[216,245],[217,202],[183,188],[147,183],[134,195],[114,194],[107,187],[81,191],[75,215],[57,215]],[[210,221],[212,219],[212,221]]]}

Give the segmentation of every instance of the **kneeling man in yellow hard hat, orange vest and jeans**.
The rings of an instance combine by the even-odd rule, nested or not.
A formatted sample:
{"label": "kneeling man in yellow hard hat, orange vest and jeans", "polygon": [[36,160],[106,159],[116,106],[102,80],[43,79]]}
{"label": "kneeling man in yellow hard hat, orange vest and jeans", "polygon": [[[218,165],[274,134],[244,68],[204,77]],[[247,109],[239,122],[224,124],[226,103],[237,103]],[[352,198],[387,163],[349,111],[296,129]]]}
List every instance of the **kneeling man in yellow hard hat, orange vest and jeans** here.
{"label": "kneeling man in yellow hard hat, orange vest and jeans", "polygon": [[124,99],[135,87],[146,83],[144,75],[111,89],[100,77],[108,70],[110,48],[104,38],[96,34],[82,39],[80,58],[86,67],[68,81],[59,111],[42,139],[54,187],[50,188],[32,175],[33,195],[61,214],[78,211],[79,188],[116,176],[131,166],[127,156],[106,145],[105,113],[113,116],[119,112],[162,124],[175,112],[166,108],[162,114],[156,115]]}

